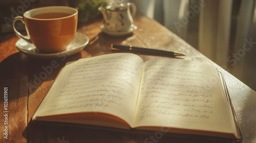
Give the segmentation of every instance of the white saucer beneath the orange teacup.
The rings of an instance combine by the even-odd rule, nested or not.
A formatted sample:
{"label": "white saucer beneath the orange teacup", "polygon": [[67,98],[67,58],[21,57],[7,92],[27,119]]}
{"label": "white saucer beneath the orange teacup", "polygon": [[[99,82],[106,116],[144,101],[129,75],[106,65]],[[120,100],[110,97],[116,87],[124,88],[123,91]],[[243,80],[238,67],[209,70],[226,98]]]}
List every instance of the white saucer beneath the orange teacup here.
{"label": "white saucer beneath the orange teacup", "polygon": [[42,59],[58,59],[63,58],[63,56],[71,56],[80,52],[88,43],[89,38],[87,35],[84,35],[80,32],[76,32],[75,38],[68,45],[67,50],[58,53],[44,53],[36,49],[34,44],[29,43],[23,39],[17,40],[15,46],[20,52],[31,57]]}

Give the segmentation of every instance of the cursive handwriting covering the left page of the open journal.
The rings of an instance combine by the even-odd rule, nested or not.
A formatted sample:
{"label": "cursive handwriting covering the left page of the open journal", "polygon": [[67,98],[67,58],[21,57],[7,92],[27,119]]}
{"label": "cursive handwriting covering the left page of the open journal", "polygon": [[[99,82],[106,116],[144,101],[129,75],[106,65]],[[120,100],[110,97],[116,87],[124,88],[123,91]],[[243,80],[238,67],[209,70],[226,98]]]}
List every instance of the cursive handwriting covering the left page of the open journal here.
{"label": "cursive handwriting covering the left page of the open journal", "polygon": [[49,91],[47,114],[107,112],[133,122],[143,60],[133,54],[80,59],[66,65]]}

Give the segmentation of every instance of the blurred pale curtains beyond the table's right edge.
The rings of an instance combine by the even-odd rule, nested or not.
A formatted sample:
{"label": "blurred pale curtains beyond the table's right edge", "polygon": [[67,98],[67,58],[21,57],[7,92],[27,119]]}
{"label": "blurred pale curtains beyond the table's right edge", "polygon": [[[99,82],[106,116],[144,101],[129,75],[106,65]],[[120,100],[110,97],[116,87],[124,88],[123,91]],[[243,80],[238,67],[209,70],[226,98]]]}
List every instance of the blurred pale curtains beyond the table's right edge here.
{"label": "blurred pale curtains beyond the table's right edge", "polygon": [[132,0],[206,57],[256,90],[255,0]]}

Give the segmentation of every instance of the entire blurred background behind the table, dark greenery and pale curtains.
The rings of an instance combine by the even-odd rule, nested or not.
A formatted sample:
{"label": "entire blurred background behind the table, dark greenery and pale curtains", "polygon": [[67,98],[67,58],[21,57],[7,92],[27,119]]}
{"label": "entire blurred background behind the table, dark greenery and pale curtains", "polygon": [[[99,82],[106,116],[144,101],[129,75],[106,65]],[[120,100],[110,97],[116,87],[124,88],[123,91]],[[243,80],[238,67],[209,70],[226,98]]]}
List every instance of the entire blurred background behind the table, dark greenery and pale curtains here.
{"label": "entire blurred background behind the table, dark greenery and pale curtains", "polygon": [[[102,3],[115,0],[2,0],[0,32],[12,32],[12,19],[44,6],[71,6],[79,22],[101,16]],[[116,0],[133,2],[137,10],[156,19],[233,76],[256,90],[255,0]],[[24,25],[18,23],[24,30]]]}

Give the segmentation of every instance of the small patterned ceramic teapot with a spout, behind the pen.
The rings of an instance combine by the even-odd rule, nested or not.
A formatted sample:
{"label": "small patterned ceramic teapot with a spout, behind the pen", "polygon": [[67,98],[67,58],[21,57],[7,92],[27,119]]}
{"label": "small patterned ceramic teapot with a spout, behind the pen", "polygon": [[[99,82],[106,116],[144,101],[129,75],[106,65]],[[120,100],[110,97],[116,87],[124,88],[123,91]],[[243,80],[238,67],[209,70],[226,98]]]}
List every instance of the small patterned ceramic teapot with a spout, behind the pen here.
{"label": "small patterned ceramic teapot with a spout, behind the pen", "polygon": [[126,32],[133,25],[133,17],[137,8],[134,3],[120,4],[117,6],[100,6],[98,10],[103,15],[104,28],[110,32]]}

